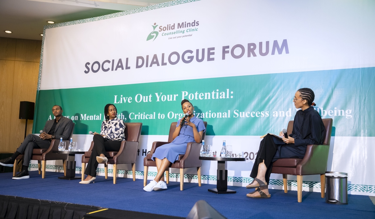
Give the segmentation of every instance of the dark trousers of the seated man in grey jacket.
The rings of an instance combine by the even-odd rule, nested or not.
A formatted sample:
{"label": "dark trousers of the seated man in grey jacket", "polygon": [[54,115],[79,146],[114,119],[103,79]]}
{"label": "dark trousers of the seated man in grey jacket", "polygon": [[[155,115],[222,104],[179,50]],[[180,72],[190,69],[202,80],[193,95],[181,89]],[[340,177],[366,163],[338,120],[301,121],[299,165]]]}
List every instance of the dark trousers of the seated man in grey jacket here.
{"label": "dark trousers of the seated man in grey jacket", "polygon": [[34,134],[28,134],[21,146],[17,149],[20,154],[24,154],[24,162],[22,165],[28,166],[30,164],[34,148],[48,149],[50,145],[51,142],[49,140],[41,139],[39,136]]}

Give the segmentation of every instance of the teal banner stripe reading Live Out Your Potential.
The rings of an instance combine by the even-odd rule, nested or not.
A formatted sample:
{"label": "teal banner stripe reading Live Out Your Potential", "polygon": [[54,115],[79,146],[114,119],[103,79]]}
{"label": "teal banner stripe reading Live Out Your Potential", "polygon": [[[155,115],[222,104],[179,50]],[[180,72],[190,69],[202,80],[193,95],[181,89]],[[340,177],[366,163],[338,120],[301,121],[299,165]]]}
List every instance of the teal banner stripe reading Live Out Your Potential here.
{"label": "teal banner stripe reading Live Out Your Potential", "polygon": [[[207,121],[207,135],[278,133],[293,120],[299,88],[315,92],[315,110],[333,118],[333,136],[375,136],[375,68],[290,72],[91,88],[40,90],[33,133],[53,119],[54,104],[75,122],[75,134],[100,131],[104,106],[114,103],[125,122],[142,122],[142,134],[167,135],[189,99]],[[101,79],[102,80],[102,79]]]}

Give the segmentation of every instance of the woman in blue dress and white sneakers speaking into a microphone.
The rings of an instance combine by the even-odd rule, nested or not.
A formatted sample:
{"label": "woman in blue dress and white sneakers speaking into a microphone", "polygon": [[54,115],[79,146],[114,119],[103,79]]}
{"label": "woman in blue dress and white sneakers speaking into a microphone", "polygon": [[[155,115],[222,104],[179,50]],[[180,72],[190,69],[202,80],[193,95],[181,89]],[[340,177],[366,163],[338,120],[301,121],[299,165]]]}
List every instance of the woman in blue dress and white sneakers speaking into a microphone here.
{"label": "woman in blue dress and white sneakers speaking into a microphone", "polygon": [[194,107],[188,100],[181,101],[184,114],[189,116],[184,120],[179,119],[173,133],[173,141],[156,148],[152,159],[156,162],[157,175],[143,189],[147,192],[167,189],[164,180],[164,172],[171,163],[178,160],[178,155],[186,153],[187,143],[201,142],[205,127],[202,119],[194,116]]}

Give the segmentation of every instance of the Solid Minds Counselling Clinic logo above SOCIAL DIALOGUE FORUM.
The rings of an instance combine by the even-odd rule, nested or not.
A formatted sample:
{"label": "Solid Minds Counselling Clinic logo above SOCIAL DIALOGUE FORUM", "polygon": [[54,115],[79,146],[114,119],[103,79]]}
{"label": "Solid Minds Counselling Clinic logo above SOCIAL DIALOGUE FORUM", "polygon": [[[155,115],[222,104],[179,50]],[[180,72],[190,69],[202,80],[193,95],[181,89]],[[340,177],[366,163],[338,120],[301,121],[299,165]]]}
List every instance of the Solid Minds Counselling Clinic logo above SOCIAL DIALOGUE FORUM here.
{"label": "Solid Minds Counselling Clinic logo above SOCIAL DIALOGUE FORUM", "polygon": [[[159,32],[162,32],[162,36],[167,36],[167,35],[175,35],[175,34],[184,34],[185,32],[186,33],[189,33],[190,32],[194,32],[194,31],[198,31],[198,27],[199,26],[199,21],[193,21],[193,22],[181,22],[181,23],[177,23],[177,25],[174,24],[167,24],[166,26],[159,26],[159,25],[156,25],[156,23],[154,23],[154,25],[151,25],[153,27],[153,31],[147,36],[147,40],[146,41],[149,41],[150,39],[153,39],[153,41],[157,38],[157,35],[159,35]],[[156,31],[156,27],[159,26],[159,31]],[[175,27],[177,26],[177,29],[181,29],[181,30],[175,30]],[[191,36],[191,35],[190,35]],[[175,37],[175,38],[179,38],[180,36],[178,37]]]}

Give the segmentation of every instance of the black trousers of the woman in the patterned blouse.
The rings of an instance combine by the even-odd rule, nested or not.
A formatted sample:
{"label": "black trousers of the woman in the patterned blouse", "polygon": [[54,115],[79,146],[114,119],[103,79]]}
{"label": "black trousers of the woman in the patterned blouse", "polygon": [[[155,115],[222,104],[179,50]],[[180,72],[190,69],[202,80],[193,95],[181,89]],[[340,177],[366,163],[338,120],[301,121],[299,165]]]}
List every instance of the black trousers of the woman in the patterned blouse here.
{"label": "black trousers of the woman in the patterned blouse", "polygon": [[106,155],[106,151],[119,151],[121,142],[107,140],[100,134],[95,134],[93,141],[94,147],[91,152],[89,163],[87,163],[85,174],[96,177],[96,168],[98,168],[99,165],[99,163],[96,161],[96,157],[100,154]]}

